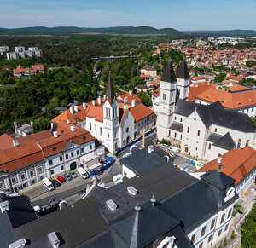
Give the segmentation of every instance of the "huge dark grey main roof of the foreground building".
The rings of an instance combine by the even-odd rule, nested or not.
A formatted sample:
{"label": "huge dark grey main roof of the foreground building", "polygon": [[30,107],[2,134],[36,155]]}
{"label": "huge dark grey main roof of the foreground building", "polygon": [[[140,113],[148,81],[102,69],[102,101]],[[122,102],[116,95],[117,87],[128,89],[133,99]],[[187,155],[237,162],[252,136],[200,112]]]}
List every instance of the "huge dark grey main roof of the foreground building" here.
{"label": "huge dark grey main roof of the foreground building", "polygon": [[[136,157],[138,153],[140,152],[128,158]],[[144,153],[143,160],[148,161],[146,157],[150,154],[152,153]],[[152,246],[155,239],[168,233],[173,234],[177,242],[180,242],[177,243],[178,247],[190,247],[183,229],[188,232],[218,211],[221,206],[218,203],[222,203],[224,199],[225,187],[234,185],[235,181],[229,176],[221,175],[223,181],[219,189],[219,186],[215,187],[219,180],[217,177],[215,182],[214,175],[202,176],[199,181],[171,163],[152,168],[63,210],[16,228],[17,239],[29,239],[28,247],[48,248],[50,245],[47,234],[56,232],[63,239],[62,248],[97,248],[102,244],[104,247],[125,247],[136,242],[137,247],[142,247]],[[127,192],[129,186],[138,190],[136,196]],[[153,194],[160,206],[151,205],[149,199]],[[108,199],[113,199],[118,205],[116,211],[108,209]],[[136,219],[134,207],[137,203],[143,210]],[[157,228],[153,228],[152,222]]]}

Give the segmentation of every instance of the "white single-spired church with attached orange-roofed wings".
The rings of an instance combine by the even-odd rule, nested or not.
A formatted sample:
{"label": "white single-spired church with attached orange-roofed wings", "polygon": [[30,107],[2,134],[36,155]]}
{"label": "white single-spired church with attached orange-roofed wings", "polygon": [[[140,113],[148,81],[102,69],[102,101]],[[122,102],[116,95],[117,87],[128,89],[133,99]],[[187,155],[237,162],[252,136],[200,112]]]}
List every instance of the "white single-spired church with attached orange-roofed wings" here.
{"label": "white single-spired church with attached orange-roofed wings", "polygon": [[143,127],[154,127],[154,111],[141,103],[131,92],[116,98],[111,76],[106,96],[80,106],[71,107],[51,120],[57,125],[62,120],[90,131],[113,153],[143,134]]}

